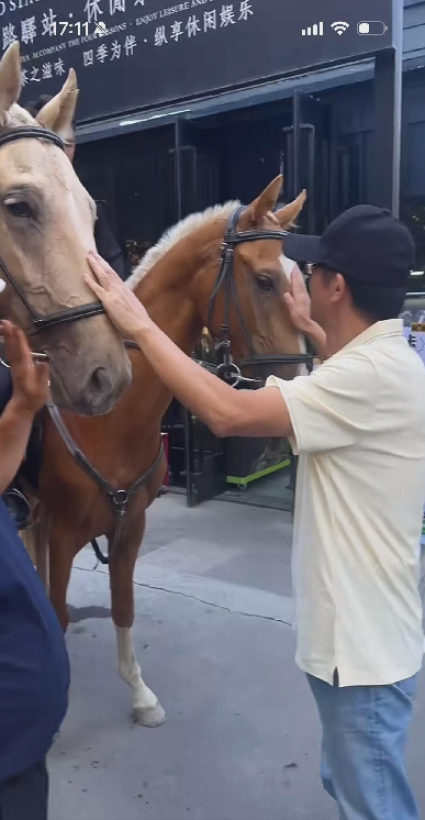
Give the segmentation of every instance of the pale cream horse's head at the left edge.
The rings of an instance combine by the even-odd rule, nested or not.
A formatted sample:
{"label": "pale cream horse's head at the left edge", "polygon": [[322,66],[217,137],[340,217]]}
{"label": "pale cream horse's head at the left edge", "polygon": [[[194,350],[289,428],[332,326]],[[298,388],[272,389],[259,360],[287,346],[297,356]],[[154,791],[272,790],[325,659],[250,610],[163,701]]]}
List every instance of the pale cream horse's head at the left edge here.
{"label": "pale cream horse's head at the left edge", "polygon": [[[61,145],[78,89],[74,71],[41,112],[16,104],[18,43],[0,64],[1,312],[23,328],[52,364],[52,394],[61,407],[93,415],[110,410],[130,384],[122,340],[85,282],[94,247],[96,207]],[[85,320],[85,321],[82,321]]]}

